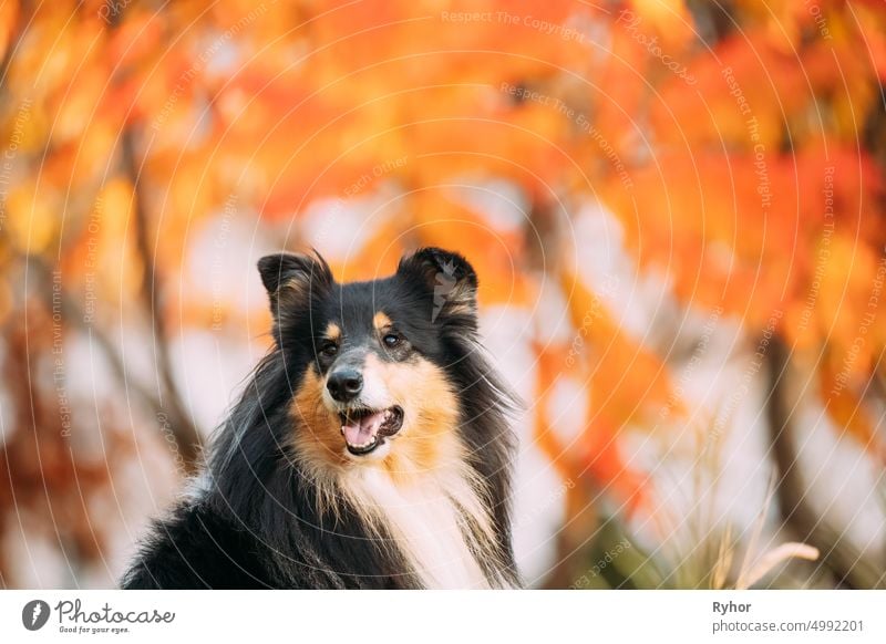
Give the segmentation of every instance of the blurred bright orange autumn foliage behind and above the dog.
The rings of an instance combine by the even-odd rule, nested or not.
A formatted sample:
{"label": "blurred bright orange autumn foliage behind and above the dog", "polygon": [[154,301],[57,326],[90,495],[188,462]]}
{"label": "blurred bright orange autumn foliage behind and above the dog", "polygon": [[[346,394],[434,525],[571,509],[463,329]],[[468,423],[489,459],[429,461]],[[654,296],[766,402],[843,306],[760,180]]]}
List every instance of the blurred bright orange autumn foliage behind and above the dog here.
{"label": "blurred bright orange autumn foliage behind and above the dog", "polygon": [[[722,308],[752,336],[783,314],[834,422],[883,459],[866,393],[886,346],[886,8],[808,4],[7,1],[0,270],[43,257],[75,298],[94,273],[111,325],[145,271],[190,279],[188,240],[233,193],[256,228],[299,246],[318,200],[395,184],[362,246],[332,259],[338,274],[453,248],[484,305],[532,313],[548,279],[581,334],[597,305],[562,215],[599,201],[687,308]],[[517,187],[524,221],[463,198],[492,180]],[[162,294],[162,320],[206,324],[205,302]],[[16,305],[0,307],[6,324]],[[564,476],[636,506],[645,477],[619,436],[669,404],[667,356],[606,310],[586,331],[568,367],[568,346],[534,344],[536,437]],[[566,372],[589,409],[577,448],[544,412]]]}

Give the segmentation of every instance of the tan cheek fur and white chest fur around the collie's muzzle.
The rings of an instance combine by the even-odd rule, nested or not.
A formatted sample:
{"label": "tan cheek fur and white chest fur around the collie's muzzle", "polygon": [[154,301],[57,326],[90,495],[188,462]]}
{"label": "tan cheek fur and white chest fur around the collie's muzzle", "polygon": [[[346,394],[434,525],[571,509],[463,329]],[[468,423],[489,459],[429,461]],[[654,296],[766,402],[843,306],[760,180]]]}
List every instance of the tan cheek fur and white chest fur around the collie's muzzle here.
{"label": "tan cheek fur and white chest fur around the collie's muzzle", "polygon": [[[485,485],[467,465],[466,448],[456,432],[460,412],[452,385],[440,367],[424,359],[389,363],[370,354],[364,372],[373,370],[391,404],[403,407],[404,415],[403,427],[388,438],[390,449],[382,459],[347,455],[341,422],[323,403],[324,381],[313,364],[296,392],[292,444],[317,490],[318,512],[338,518],[348,499],[370,530],[381,534],[383,528],[385,534],[401,539],[399,544],[425,585],[482,585],[482,572],[463,542],[464,519],[459,517],[463,513],[468,521],[472,548],[487,561],[497,557],[491,546],[496,536]],[[413,508],[431,516],[416,515]],[[429,529],[443,546],[424,548]],[[446,565],[456,565],[455,577],[437,579],[434,570],[440,557]]]}

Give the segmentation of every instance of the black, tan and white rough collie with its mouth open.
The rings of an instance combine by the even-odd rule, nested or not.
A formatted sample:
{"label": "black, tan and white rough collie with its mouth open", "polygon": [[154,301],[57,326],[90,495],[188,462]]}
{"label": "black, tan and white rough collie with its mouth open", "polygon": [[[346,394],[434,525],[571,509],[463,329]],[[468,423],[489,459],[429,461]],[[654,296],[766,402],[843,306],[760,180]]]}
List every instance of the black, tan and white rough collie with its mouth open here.
{"label": "black, tan and white rough collie with its mouth open", "polygon": [[124,588],[513,588],[514,398],[477,341],[477,278],[424,249],[338,283],[258,263],[275,346]]}

